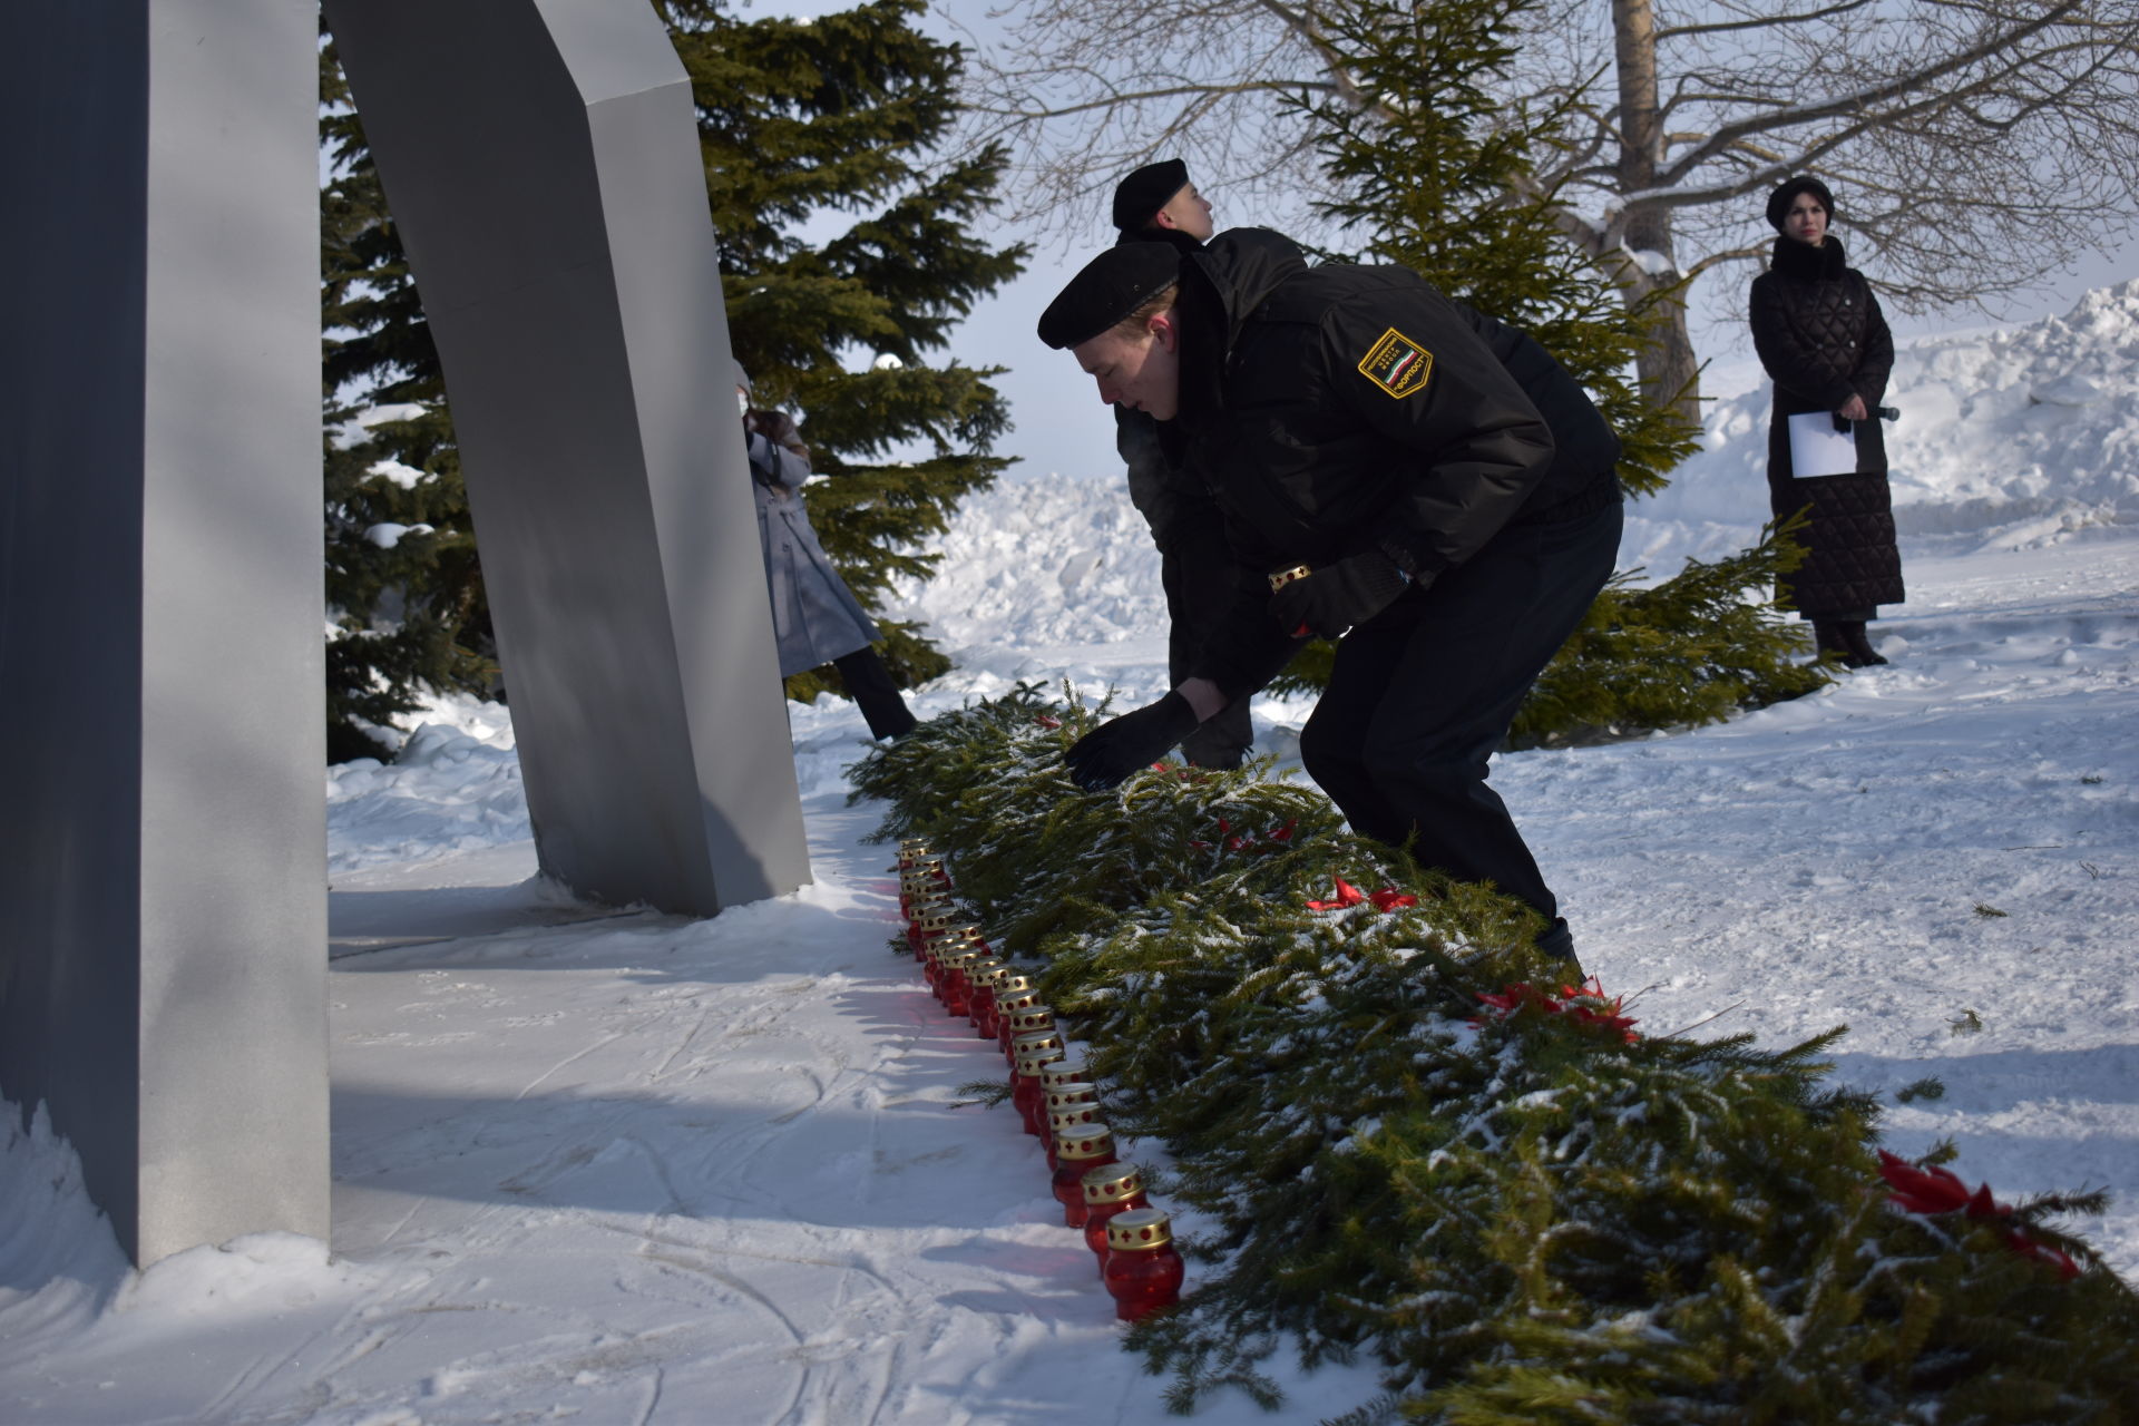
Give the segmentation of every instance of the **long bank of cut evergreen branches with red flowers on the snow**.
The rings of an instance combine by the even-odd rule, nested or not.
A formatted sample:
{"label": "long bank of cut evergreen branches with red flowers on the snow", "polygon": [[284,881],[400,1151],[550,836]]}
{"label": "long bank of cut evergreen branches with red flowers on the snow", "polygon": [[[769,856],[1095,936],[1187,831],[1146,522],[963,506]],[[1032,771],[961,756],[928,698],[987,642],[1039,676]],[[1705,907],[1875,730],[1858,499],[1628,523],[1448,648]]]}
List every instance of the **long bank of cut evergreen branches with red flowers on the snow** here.
{"label": "long bank of cut evergreen branches with red flowers on the snow", "polygon": [[1277,1405],[1290,1347],[1382,1362],[1345,1422],[2126,1420],[2139,1298],[2049,1223],[2103,1195],[2009,1210],[1917,1174],[1904,1212],[1876,1103],[1825,1084],[1840,1028],[1638,1035],[1551,979],[1534,913],[1320,793],[1170,763],[1076,793],[1061,753],[1099,714],[1020,684],[853,778],[879,836],[952,859],[1213,1225],[1127,1336],[1174,1409]]}

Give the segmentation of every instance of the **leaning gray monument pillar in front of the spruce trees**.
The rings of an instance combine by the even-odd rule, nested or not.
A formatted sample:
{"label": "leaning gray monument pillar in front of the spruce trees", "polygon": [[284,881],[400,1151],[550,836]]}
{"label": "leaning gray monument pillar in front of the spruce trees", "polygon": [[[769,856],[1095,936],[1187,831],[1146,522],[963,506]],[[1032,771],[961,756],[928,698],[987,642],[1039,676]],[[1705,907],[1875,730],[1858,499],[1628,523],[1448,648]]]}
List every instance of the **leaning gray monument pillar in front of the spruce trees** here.
{"label": "leaning gray monument pillar in front of the spruce trees", "polygon": [[642,0],[329,0],[445,366],[541,866],[809,879],[691,86]]}

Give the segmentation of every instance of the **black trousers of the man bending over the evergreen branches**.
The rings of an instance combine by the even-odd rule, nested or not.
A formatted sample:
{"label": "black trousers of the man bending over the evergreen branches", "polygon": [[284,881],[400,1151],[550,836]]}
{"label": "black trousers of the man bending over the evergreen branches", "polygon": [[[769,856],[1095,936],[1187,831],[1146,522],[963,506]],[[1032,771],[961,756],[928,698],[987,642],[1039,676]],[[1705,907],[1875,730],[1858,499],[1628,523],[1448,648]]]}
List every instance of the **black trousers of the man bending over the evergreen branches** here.
{"label": "black trousers of the man bending over the evergreen branches", "polygon": [[1405,594],[1337,646],[1330,686],[1301,731],[1301,763],[1360,836],[1420,866],[1491,881],[1546,919],[1553,892],[1487,759],[1619,552],[1619,505],[1517,524],[1469,562]]}

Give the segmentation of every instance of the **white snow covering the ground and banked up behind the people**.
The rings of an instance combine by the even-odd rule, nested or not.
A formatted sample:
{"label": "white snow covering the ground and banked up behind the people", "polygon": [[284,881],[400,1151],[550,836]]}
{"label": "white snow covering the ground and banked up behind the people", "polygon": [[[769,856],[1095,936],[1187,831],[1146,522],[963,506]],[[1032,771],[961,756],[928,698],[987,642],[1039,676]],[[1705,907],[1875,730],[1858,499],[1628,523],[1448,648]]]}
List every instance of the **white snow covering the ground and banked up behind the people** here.
{"label": "white snow covering the ground and banked up behind the people", "polygon": [[[1895,1146],[1951,1137],[2002,1197],[2109,1187],[2086,1231],[2139,1276],[2139,284],[1919,342],[1891,400],[1891,667],[1495,782],[1645,1030],[1846,1022],[1844,1080],[1946,1086],[1895,1103]],[[1763,419],[1718,404],[1621,562],[1745,543]],[[1016,678],[1164,686],[1114,472],[1005,479],[907,594],[960,661],[924,716]],[[791,714],[815,885],[710,921],[533,881],[498,708],[329,770],[332,1257],[259,1236],[130,1272],[71,1150],[11,1129],[0,1422],[1164,1420],[1035,1144],[954,1107],[1001,1060],[886,954],[860,718]],[[1290,753],[1307,708],[1256,714]],[[1371,1375],[1290,1392],[1313,1420]]]}

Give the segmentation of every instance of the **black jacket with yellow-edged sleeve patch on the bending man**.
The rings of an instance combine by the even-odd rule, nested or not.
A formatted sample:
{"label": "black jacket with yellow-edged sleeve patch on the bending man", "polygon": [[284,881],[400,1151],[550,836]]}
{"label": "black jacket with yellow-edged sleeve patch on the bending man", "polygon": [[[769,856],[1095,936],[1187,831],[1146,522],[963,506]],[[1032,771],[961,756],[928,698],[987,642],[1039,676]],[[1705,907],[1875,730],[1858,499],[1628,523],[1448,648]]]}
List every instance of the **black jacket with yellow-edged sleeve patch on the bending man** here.
{"label": "black jacket with yellow-edged sleeve patch on the bending man", "polygon": [[1619,438],[1534,340],[1407,267],[1307,267],[1234,229],[1189,254],[1168,455],[1204,479],[1236,560],[1196,673],[1253,693],[1292,652],[1268,575],[1382,549],[1418,577],[1508,522],[1619,498]]}

